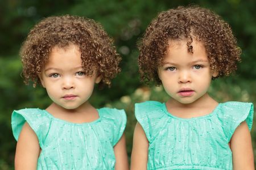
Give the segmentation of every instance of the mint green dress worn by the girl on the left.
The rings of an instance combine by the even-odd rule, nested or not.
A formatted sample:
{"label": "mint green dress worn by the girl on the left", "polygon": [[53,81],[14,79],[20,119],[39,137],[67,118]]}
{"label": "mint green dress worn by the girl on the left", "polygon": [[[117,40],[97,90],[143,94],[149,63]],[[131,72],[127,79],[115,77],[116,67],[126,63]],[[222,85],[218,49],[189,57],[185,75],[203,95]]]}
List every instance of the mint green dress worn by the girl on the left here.
{"label": "mint green dress worn by the girl on the left", "polygon": [[35,131],[42,149],[38,169],[114,169],[113,147],[126,126],[123,110],[97,109],[96,121],[75,124],[60,120],[42,109],[21,109],[11,117],[18,141],[25,122]]}

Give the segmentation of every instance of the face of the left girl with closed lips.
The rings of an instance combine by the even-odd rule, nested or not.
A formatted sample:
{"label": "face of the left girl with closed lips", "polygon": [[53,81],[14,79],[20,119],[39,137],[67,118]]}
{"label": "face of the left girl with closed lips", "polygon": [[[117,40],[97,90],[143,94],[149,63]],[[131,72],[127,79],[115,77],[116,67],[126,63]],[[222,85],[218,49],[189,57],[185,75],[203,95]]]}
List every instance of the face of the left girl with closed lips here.
{"label": "face of the left girl with closed lips", "polygon": [[55,46],[40,75],[43,87],[51,100],[65,109],[76,109],[88,102],[94,83],[101,78],[84,75],[81,52],[76,45]]}

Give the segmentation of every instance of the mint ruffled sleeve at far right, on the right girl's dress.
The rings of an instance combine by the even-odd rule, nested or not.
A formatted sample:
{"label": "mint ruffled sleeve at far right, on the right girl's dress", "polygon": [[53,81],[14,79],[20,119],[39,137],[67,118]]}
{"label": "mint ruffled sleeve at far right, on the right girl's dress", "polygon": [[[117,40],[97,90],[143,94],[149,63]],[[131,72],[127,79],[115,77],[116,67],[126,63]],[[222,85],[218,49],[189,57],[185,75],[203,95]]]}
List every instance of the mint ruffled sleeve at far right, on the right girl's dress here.
{"label": "mint ruffled sleeve at far right, on the right girl's dress", "polygon": [[225,128],[229,141],[237,127],[246,121],[249,130],[253,126],[253,103],[229,101],[222,104],[222,126]]}

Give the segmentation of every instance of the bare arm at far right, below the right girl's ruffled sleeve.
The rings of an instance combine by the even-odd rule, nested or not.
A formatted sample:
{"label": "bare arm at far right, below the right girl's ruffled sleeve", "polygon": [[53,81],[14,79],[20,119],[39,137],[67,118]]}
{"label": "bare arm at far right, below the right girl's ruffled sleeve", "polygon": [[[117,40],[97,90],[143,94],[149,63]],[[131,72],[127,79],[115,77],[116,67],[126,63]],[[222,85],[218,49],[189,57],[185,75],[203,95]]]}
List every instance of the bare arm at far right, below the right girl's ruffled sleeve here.
{"label": "bare arm at far right, below the right girl's ruffled sleeve", "polygon": [[246,122],[242,122],[230,140],[233,157],[233,169],[254,169],[251,135]]}

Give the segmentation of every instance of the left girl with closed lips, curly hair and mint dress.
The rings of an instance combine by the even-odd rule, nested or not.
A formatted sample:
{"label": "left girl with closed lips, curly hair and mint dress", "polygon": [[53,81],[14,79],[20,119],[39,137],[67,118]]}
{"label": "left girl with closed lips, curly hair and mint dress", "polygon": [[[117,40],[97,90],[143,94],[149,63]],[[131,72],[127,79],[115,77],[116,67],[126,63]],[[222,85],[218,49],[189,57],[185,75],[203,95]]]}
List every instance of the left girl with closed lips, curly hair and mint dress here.
{"label": "left girl with closed lips, curly hair and mint dress", "polygon": [[52,104],[12,114],[15,169],[128,169],[123,110],[89,103],[110,86],[121,60],[100,24],[53,16],[31,29],[20,50],[24,82],[46,88]]}

